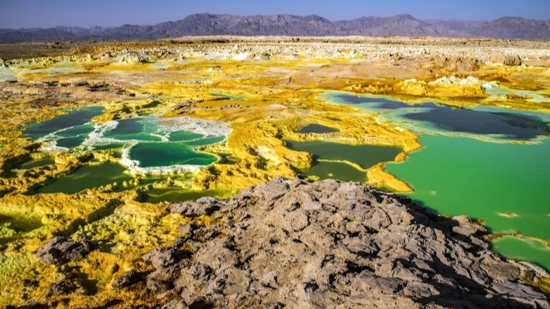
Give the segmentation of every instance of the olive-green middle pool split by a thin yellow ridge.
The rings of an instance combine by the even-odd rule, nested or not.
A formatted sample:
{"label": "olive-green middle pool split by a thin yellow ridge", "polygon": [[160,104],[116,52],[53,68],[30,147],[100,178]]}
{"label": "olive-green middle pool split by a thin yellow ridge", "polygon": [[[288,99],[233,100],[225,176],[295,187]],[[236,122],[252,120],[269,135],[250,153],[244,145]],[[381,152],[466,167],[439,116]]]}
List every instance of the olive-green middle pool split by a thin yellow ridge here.
{"label": "olive-green middle pool split by a thin yellow ridge", "polygon": [[[313,155],[313,166],[304,171],[305,176],[317,176],[321,179],[336,178],[341,181],[367,181],[365,171],[355,169],[346,162],[352,162],[362,169],[379,162],[391,161],[403,150],[399,147],[373,145],[345,145],[316,140],[313,142],[296,142],[284,140],[286,147],[292,150],[309,152]],[[329,160],[329,161],[326,161]]]}

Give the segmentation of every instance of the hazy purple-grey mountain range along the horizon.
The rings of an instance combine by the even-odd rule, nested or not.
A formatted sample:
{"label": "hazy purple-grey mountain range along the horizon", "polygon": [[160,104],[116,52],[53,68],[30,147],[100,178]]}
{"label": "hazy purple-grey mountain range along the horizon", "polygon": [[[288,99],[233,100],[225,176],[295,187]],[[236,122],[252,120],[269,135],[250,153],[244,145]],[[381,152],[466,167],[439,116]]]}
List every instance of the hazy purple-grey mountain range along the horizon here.
{"label": "hazy purple-grey mountain range along the horizon", "polygon": [[78,40],[150,40],[193,35],[286,36],[406,36],[483,37],[510,40],[550,40],[550,20],[503,17],[488,22],[418,20],[408,14],[330,21],[321,16],[234,16],[193,14],[157,25],[121,25],[115,28],[0,29],[0,42]]}

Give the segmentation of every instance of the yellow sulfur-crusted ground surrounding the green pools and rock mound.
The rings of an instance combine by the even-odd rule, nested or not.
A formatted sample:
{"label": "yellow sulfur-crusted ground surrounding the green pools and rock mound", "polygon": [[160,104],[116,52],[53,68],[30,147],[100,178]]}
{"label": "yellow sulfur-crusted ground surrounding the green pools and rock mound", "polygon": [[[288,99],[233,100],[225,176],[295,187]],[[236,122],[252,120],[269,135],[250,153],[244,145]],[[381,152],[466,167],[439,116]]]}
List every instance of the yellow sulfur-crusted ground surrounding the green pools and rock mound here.
{"label": "yellow sulfur-crusted ground surrounding the green pools and rock mound", "polygon": [[[288,149],[283,138],[394,145],[403,148],[396,160],[422,147],[416,135],[377,122],[374,114],[319,99],[327,90],[391,95],[410,104],[550,112],[548,103],[534,98],[550,98],[548,42],[184,38],[0,45],[0,57],[1,305],[92,307],[108,305],[114,294],[128,304],[147,303],[153,294],[115,290],[111,281],[128,269],[145,267],[140,256],[172,243],[178,236],[174,226],[209,224],[208,217],[186,218],[140,202],[142,188],[33,195],[37,186],[78,166],[120,159],[109,150],[44,153],[22,137],[25,124],[51,119],[62,109],[102,105],[106,110],[96,122],[151,113],[229,123],[232,132],[225,143],[200,147],[219,162],[190,180],[173,176],[185,178],[178,182],[184,188],[217,190],[222,197],[275,176],[296,176],[311,166],[312,156]],[[487,83],[523,92],[495,96],[482,87]],[[297,133],[309,123],[339,131]],[[55,163],[16,169],[43,157],[53,157]],[[376,186],[410,190],[384,171],[384,163],[365,172]],[[101,249],[85,260],[45,265],[34,252],[58,235],[93,240]],[[70,298],[47,296],[51,284],[65,279],[78,286]]]}

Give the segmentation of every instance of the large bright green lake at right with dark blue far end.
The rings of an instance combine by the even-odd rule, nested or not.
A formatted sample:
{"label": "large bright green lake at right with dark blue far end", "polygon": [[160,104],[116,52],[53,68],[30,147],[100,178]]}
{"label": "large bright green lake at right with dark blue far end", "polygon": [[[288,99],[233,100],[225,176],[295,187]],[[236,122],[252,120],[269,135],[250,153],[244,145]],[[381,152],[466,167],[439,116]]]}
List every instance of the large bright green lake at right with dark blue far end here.
{"label": "large bright green lake at right with dark blue far end", "polygon": [[[550,239],[550,115],[494,107],[405,104],[389,97],[323,95],[420,135],[421,150],[386,170],[409,183],[412,200],[440,214],[481,219],[493,233]],[[523,143],[516,143],[518,140]],[[525,143],[526,142],[526,143]],[[497,252],[550,269],[544,241],[506,236]]]}

